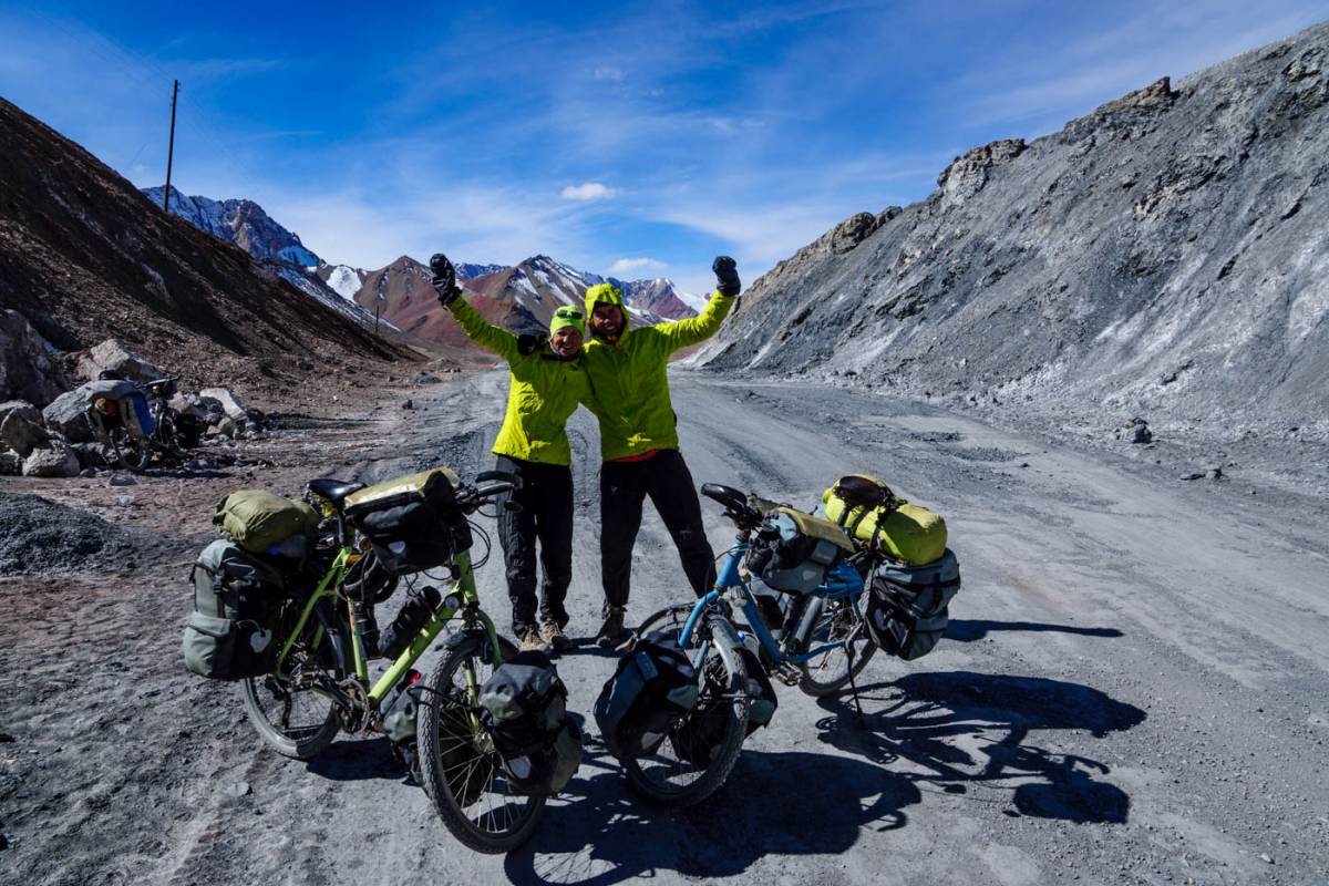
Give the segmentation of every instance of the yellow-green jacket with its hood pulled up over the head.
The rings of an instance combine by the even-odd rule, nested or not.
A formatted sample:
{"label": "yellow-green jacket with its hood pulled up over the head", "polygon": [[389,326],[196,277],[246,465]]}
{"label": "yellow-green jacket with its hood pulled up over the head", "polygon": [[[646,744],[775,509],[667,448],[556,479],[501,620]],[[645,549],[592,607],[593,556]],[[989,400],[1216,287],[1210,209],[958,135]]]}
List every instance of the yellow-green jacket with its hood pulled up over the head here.
{"label": "yellow-green jacket with its hood pulled up over the head", "polygon": [[[623,333],[610,344],[595,336],[590,315],[597,304],[623,311]],[[587,408],[599,418],[599,450],[605,461],[639,456],[651,449],[678,449],[678,418],[668,396],[670,355],[704,341],[724,321],[734,299],[716,291],[695,317],[629,328],[623,295],[610,283],[586,291],[585,365],[594,397]]]}

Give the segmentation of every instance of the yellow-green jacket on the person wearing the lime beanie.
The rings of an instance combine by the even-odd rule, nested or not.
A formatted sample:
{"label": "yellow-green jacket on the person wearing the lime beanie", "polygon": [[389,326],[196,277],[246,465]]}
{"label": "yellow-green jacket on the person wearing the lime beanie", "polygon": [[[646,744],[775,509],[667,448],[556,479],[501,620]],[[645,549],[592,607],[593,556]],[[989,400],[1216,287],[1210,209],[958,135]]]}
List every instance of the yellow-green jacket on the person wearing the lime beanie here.
{"label": "yellow-green jacket on the person wearing the lime beanie", "polygon": [[548,347],[522,355],[517,349],[517,336],[486,323],[461,296],[453,299],[448,310],[476,344],[506,360],[512,371],[508,412],[494,440],[494,454],[571,465],[567,417],[577,412],[577,404],[590,399],[583,359],[560,360]]}

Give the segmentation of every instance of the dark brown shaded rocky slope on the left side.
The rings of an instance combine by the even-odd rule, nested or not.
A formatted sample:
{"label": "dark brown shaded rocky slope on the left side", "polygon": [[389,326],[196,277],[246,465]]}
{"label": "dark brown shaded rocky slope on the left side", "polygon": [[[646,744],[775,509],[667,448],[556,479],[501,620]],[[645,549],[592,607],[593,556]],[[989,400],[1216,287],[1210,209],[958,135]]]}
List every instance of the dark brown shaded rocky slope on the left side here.
{"label": "dark brown shaded rocky slope on the left side", "polygon": [[274,396],[303,384],[315,363],[404,356],[241,248],[162,214],[3,100],[0,308],[60,351],[114,336],[186,385],[225,381]]}

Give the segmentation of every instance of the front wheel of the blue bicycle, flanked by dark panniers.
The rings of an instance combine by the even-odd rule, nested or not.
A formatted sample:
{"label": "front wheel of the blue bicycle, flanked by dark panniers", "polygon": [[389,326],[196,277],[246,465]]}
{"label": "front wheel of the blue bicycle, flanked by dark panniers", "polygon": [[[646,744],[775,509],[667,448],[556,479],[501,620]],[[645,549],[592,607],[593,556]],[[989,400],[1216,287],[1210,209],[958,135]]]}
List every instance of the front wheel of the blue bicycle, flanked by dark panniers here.
{"label": "front wheel of the blue bicycle, flanked by dark panniers", "polygon": [[[676,640],[690,611],[662,610],[643,622],[638,634],[662,631]],[[696,805],[719,790],[747,737],[748,680],[736,648],[706,623],[698,626],[684,651],[698,672],[696,704],[651,754],[622,761],[627,784],[638,796],[671,808]]]}

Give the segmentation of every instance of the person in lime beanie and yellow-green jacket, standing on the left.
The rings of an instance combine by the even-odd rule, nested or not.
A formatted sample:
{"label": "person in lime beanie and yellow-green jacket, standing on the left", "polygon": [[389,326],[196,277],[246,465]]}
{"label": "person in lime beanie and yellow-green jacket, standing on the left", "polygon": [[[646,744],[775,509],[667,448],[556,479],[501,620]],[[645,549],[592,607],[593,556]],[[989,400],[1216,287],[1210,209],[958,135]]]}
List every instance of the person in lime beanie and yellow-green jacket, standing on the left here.
{"label": "person in lime beanie and yellow-green jacket, standing on the left", "polygon": [[[498,511],[512,600],[512,630],[524,650],[566,650],[563,600],[573,576],[573,473],[567,417],[589,400],[582,368],[585,315],[573,306],[554,311],[544,336],[516,336],[485,321],[466,304],[456,270],[444,255],[429,260],[433,288],[476,344],[497,353],[512,371],[508,410],[494,441],[498,470],[517,474],[522,487],[510,494],[520,507]],[[536,622],[536,542],[545,580]]]}

